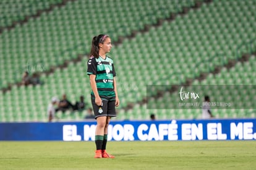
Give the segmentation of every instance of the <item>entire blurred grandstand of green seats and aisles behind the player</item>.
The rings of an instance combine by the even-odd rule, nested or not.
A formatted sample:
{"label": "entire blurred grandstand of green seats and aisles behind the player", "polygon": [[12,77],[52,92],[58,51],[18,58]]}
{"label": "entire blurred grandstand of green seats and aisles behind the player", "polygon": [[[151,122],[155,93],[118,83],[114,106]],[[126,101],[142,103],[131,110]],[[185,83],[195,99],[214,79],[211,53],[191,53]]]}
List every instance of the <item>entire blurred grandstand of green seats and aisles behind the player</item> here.
{"label": "entire blurred grandstand of green seats and aisles behind the player", "polygon": [[[201,109],[169,107],[173,85],[256,85],[255,0],[1,0],[0,121],[47,122],[48,104],[63,96],[70,107],[56,108],[54,121],[85,121],[88,53],[99,34],[113,43],[121,101],[114,120],[200,119]],[[256,117],[248,102],[255,93],[215,92],[213,100],[241,100],[240,108],[214,109],[215,118]]]}

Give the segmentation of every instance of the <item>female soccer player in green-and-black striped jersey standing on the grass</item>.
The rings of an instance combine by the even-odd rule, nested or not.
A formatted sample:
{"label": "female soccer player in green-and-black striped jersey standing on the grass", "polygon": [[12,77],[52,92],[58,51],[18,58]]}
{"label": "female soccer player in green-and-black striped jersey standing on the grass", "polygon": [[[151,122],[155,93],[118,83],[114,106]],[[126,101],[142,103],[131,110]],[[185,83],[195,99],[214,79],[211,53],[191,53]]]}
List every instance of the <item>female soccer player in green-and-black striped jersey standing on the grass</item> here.
{"label": "female soccer player in green-and-black striped jersey standing on the grass", "polygon": [[119,106],[113,59],[106,56],[111,47],[111,39],[108,35],[94,36],[90,59],[87,62],[87,74],[92,87],[92,106],[97,122],[94,158],[114,158],[106,153],[108,124],[111,117],[116,116],[115,107]]}

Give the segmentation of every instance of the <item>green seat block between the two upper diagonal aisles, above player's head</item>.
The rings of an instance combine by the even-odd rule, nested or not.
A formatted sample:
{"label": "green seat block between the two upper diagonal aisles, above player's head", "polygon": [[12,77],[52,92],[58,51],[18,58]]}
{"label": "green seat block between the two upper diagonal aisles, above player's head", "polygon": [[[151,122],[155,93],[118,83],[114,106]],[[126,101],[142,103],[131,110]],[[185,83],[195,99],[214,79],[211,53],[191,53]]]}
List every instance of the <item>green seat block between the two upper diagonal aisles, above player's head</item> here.
{"label": "green seat block between the two upper diagonal aisles, above player's head", "polygon": [[[72,1],[66,6],[55,7],[49,13],[42,13],[40,17],[31,18],[25,25],[16,25],[11,31],[4,30],[0,39],[1,56],[4,57],[4,62],[1,62],[4,71],[0,75],[0,87],[19,82],[20,70],[28,66],[43,65],[43,70],[49,70],[77,58],[78,54],[87,54],[91,36],[98,32],[109,33],[117,41],[119,36],[130,35],[132,30],[143,29],[145,24],[156,23],[171,12],[179,12],[183,6],[188,6],[181,2],[193,1],[174,1],[168,8],[166,2],[109,1],[102,4],[106,7],[101,8],[99,16],[99,13],[89,11],[100,7],[100,3]],[[112,9],[111,15],[109,8]]]}

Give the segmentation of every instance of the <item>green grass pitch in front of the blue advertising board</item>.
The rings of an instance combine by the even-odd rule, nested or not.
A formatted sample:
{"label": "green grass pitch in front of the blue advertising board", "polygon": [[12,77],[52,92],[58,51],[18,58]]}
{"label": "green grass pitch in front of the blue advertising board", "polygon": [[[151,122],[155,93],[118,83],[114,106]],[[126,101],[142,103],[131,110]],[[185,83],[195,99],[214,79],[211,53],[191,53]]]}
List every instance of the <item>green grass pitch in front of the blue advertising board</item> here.
{"label": "green grass pitch in front of the blue advertising board", "polygon": [[0,169],[256,169],[256,142],[0,142]]}

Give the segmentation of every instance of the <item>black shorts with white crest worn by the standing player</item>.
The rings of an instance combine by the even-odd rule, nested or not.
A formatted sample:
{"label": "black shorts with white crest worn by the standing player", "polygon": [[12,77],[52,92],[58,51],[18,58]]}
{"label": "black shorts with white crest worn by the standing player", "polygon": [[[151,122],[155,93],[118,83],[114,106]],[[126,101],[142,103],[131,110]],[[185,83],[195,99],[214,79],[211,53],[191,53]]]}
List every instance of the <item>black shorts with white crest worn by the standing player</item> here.
{"label": "black shorts with white crest worn by the standing player", "polygon": [[102,100],[101,106],[98,106],[92,98],[92,106],[95,119],[100,116],[116,117],[116,100]]}

